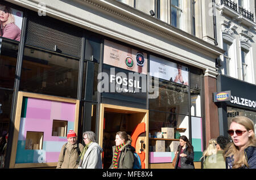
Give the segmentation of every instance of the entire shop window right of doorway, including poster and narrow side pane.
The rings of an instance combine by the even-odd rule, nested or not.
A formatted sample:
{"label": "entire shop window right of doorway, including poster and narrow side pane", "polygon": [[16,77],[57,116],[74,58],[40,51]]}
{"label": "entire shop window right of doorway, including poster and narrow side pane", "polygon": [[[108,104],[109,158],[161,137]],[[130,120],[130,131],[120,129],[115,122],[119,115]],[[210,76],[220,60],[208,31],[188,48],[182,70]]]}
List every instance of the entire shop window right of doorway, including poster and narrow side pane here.
{"label": "entire shop window right of doorway, including poster and narrow side pane", "polygon": [[150,75],[153,76],[150,88],[159,87],[159,96],[149,99],[150,164],[171,163],[168,157],[174,157],[181,135],[192,142],[194,161],[200,161],[203,153],[201,70],[150,55]]}

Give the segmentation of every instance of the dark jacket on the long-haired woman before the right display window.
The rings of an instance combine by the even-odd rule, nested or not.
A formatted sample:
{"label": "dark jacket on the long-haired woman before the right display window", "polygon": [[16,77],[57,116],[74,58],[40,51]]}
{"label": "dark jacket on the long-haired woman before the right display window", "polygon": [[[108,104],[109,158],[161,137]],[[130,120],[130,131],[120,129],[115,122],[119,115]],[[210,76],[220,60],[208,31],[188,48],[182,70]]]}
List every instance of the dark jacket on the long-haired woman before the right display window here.
{"label": "dark jacket on the long-haired woman before the right display window", "polygon": [[[180,145],[179,145],[180,146]],[[179,147],[178,147],[179,149]],[[192,152],[188,152],[188,146],[186,145],[185,149],[183,150],[183,153],[187,155],[186,157],[180,157],[180,152],[177,155],[177,161],[175,163],[175,169],[177,169],[177,166],[179,164],[179,160],[181,159],[181,169],[195,169],[194,165],[194,151],[192,149]]]}

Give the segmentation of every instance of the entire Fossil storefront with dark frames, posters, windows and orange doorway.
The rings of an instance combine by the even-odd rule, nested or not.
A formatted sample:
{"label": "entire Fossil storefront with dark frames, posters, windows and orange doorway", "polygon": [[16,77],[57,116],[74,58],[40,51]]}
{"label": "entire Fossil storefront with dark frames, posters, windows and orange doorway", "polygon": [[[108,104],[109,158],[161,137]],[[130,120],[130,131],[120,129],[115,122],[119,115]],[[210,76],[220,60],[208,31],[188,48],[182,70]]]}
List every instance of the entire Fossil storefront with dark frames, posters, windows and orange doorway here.
{"label": "entire Fossil storefront with dark frames, posters, windows and orange doorway", "polygon": [[202,70],[6,5],[18,12],[21,36],[1,37],[1,168],[55,168],[70,129],[80,143],[82,132],[96,132],[104,168],[117,131],[131,135],[142,168],[173,168],[180,135],[200,166]]}

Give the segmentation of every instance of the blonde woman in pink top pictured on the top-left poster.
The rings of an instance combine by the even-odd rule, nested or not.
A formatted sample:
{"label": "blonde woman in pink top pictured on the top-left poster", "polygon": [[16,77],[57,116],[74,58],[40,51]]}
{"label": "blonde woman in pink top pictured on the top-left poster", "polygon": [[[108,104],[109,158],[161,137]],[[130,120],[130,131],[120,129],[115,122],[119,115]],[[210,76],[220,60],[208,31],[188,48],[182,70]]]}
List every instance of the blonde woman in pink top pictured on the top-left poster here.
{"label": "blonde woman in pink top pictured on the top-left poster", "polygon": [[15,24],[15,18],[10,7],[0,5],[0,36],[20,41],[20,28]]}

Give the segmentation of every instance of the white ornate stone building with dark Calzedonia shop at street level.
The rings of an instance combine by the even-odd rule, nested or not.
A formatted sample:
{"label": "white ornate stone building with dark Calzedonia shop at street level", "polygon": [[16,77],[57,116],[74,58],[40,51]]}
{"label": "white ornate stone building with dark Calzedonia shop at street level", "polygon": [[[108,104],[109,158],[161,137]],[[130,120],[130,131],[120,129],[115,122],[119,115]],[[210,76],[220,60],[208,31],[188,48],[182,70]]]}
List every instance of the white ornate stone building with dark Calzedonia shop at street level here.
{"label": "white ornate stone building with dark Calzedonia shop at street level", "polygon": [[225,50],[218,63],[217,90],[230,91],[231,100],[217,102],[220,134],[229,121],[245,115],[256,122],[255,1],[216,1],[218,46]]}

